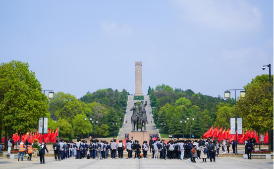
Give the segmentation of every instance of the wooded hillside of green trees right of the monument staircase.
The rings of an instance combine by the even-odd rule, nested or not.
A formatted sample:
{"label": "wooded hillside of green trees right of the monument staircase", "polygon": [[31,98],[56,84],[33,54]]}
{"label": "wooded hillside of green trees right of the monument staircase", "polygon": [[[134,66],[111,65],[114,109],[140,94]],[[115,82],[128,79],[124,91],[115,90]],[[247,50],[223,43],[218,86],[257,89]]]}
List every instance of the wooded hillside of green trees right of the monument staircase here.
{"label": "wooded hillside of green trees right of the monument staircase", "polygon": [[155,89],[149,87],[148,94],[157,127],[176,137],[182,137],[183,133],[185,137],[190,137],[190,129],[191,137],[202,136],[214,125],[219,108],[224,105],[231,107],[234,103],[234,99],[224,100],[220,96],[194,93],[190,89],[173,89],[165,84],[158,85]]}

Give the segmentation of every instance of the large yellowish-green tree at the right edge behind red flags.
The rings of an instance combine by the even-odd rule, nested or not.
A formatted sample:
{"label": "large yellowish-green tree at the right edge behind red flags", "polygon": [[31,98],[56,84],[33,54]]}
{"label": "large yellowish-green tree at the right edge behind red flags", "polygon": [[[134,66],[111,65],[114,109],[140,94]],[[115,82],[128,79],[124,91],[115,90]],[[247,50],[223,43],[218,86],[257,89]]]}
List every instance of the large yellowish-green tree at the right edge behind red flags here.
{"label": "large yellowish-green tree at the right edge behind red flags", "polygon": [[[272,130],[274,111],[273,84],[259,81],[258,83],[248,84],[245,88],[246,96],[239,99],[235,106],[240,117],[243,117],[243,127],[255,129],[258,135]],[[272,88],[272,92],[270,92],[270,88]],[[259,150],[261,151],[260,142]]]}

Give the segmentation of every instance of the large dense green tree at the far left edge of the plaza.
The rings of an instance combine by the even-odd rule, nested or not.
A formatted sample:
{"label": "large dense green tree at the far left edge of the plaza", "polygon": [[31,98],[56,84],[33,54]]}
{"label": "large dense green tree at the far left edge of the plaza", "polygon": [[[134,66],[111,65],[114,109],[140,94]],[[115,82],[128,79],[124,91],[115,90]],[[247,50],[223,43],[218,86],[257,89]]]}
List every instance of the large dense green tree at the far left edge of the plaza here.
{"label": "large dense green tree at the far left edge of the plaza", "polygon": [[4,124],[5,137],[8,129],[27,133],[46,116],[48,98],[41,89],[28,63],[13,60],[0,64],[0,124]]}

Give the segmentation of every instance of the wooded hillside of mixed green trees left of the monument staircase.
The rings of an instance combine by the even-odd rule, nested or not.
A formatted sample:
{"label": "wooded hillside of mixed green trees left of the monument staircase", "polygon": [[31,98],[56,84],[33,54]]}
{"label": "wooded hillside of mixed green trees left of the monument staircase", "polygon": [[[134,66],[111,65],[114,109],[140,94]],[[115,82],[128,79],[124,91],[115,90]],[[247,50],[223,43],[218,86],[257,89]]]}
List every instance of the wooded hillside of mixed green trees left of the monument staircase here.
{"label": "wooded hillside of mixed green trees left of the monument staircase", "polygon": [[125,89],[87,92],[80,99],[58,92],[49,103],[49,112],[55,115],[57,122],[50,123],[49,127],[59,127],[60,136],[69,139],[84,138],[88,133],[96,137],[109,137],[114,132],[117,135],[124,121],[127,98]]}

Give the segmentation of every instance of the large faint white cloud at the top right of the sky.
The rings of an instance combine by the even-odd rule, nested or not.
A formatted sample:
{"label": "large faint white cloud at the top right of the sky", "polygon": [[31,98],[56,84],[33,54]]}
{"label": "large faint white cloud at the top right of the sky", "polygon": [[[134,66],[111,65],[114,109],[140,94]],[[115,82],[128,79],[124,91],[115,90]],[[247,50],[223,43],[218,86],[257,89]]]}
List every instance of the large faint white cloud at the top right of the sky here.
{"label": "large faint white cloud at the top right of the sky", "polygon": [[262,12],[246,0],[170,0],[185,21],[220,31],[254,31],[262,25]]}

